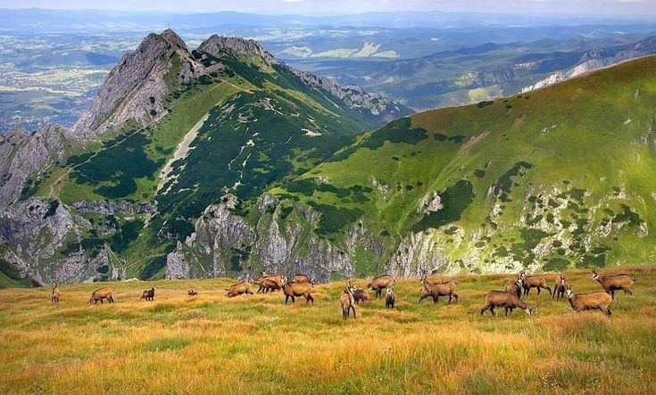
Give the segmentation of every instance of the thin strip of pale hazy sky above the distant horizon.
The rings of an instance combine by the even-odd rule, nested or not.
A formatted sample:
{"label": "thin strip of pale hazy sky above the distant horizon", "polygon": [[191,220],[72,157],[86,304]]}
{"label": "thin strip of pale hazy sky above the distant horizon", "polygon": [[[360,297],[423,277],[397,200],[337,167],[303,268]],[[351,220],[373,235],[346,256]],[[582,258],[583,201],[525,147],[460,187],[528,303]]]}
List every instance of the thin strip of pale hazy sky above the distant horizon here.
{"label": "thin strip of pale hazy sky above the distant horizon", "polygon": [[0,8],[104,9],[152,12],[354,13],[469,11],[654,15],[656,0],[0,0]]}

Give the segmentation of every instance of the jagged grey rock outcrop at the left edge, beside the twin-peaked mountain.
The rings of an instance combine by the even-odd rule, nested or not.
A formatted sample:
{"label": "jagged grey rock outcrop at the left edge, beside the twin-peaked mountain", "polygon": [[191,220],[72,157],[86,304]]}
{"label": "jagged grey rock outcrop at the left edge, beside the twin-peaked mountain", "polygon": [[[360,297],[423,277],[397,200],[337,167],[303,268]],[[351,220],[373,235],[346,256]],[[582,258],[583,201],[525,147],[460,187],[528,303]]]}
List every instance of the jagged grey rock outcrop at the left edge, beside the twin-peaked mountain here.
{"label": "jagged grey rock outcrop at the left edge, beside the twin-peaked mountain", "polygon": [[24,128],[0,135],[0,210],[19,198],[29,177],[63,159],[63,134],[59,126],[42,125],[31,135]]}

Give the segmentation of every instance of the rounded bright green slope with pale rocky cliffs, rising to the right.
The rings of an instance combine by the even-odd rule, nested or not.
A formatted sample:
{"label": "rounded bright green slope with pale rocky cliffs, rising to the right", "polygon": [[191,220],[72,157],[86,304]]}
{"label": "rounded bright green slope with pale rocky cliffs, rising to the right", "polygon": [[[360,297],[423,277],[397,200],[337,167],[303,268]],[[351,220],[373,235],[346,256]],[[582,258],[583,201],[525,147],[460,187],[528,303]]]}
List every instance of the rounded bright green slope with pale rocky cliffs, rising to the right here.
{"label": "rounded bright green slope with pale rocky cliffs, rising to the right", "polygon": [[[286,246],[277,268],[316,267],[322,278],[651,261],[655,66],[641,58],[357,136],[270,189],[269,208],[250,219],[256,236],[243,232],[245,247],[260,251],[247,263],[269,262],[262,245],[271,240]],[[237,248],[212,219],[196,232]],[[179,246],[177,272],[194,273],[203,243]],[[227,259],[213,248],[212,259]]]}

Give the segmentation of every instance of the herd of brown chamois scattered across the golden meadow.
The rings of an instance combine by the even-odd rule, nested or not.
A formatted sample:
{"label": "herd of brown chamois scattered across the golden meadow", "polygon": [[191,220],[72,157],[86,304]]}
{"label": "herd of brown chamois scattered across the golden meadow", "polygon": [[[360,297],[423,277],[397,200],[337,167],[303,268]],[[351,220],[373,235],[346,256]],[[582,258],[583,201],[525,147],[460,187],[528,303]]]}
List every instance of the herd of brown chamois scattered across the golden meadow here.
{"label": "herd of brown chamois scattered across the golden meadow", "polygon": [[[520,272],[517,278],[508,280],[504,284],[503,291],[490,291],[485,294],[485,305],[480,309],[480,314],[483,315],[487,310],[494,315],[494,309],[503,308],[507,316],[514,309],[523,310],[528,316],[532,316],[533,310],[540,304],[530,306],[522,296],[526,297],[531,289],[535,288],[539,295],[542,290],[549,292],[552,299],[560,300],[566,298],[574,311],[581,312],[583,310],[598,309],[603,314],[610,317],[610,302],[615,300],[615,292],[623,291],[625,294],[632,295],[633,292],[629,289],[635,283],[635,279],[626,274],[602,276],[596,269],[592,271],[592,279],[602,286],[602,291],[590,293],[574,293],[572,287],[568,284],[567,276],[559,274],[556,276],[555,284],[552,288],[547,284],[544,276],[527,276],[524,272]],[[339,304],[342,308],[342,317],[347,319],[352,316],[356,317],[355,307],[360,303],[367,303],[371,301],[370,292],[374,292],[376,298],[382,297],[382,292],[385,290],[385,307],[386,309],[394,309],[396,302],[396,295],[394,293],[393,284],[395,283],[393,276],[385,275],[373,278],[368,284],[367,289],[358,289],[353,281],[346,283],[344,292],[340,294]],[[281,291],[285,295],[285,304],[291,299],[295,303],[296,298],[303,297],[305,303],[314,304],[311,292],[314,283],[310,277],[305,275],[295,275],[291,280],[286,276],[264,276],[254,279],[252,282],[242,282],[234,284],[225,289],[225,295],[228,298],[234,298],[239,295],[253,295],[251,290],[252,284],[258,286],[257,293],[269,293]],[[447,298],[449,304],[458,302],[458,293],[456,293],[457,283],[452,280],[444,280],[431,283],[428,281],[426,275],[421,276],[420,280],[421,291],[419,294],[419,301],[431,298],[433,304],[436,305],[440,296]],[[144,290],[139,300],[154,300],[156,288]],[[51,292],[51,300],[53,304],[58,304],[60,299],[60,289],[57,283],[54,284]],[[197,295],[193,287],[189,287],[187,295],[193,297]],[[104,303],[113,303],[113,292],[111,288],[104,287],[95,290],[91,293],[91,298],[88,300],[88,305]]]}

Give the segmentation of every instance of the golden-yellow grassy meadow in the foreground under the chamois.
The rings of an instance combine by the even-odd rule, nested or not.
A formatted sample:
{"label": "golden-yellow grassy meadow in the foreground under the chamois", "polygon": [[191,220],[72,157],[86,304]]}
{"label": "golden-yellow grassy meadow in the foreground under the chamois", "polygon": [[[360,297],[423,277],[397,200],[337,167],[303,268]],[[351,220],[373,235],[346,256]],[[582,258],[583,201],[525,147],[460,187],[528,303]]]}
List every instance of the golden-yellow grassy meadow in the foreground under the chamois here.
{"label": "golden-yellow grassy meadow in the foreground under the chamois", "polygon": [[[228,279],[162,281],[154,302],[138,300],[150,283],[109,284],[116,303],[92,307],[98,284],[62,286],[57,307],[47,288],[2,290],[0,393],[654,393],[656,267],[623,271],[635,294],[611,318],[535,291],[533,319],[481,317],[484,293],[511,276],[457,277],[460,302],[437,307],[418,305],[419,279],[400,280],[396,309],[374,300],[354,321],[342,283],[315,285],[314,306],[280,292],[228,300]],[[569,280],[600,289],[589,271]]]}

